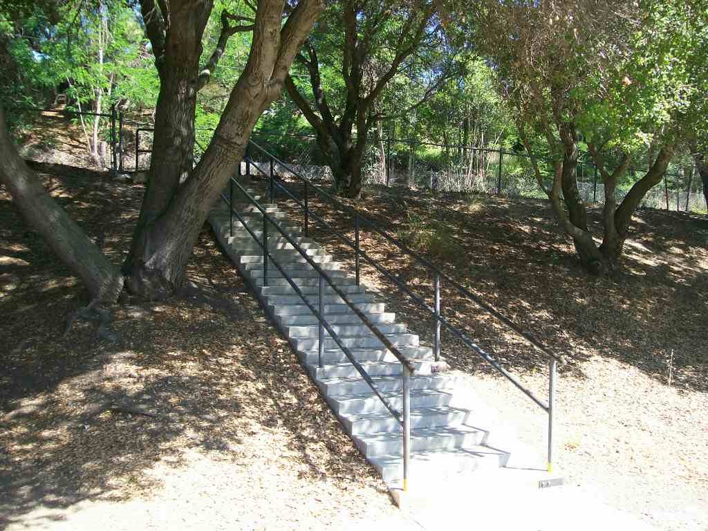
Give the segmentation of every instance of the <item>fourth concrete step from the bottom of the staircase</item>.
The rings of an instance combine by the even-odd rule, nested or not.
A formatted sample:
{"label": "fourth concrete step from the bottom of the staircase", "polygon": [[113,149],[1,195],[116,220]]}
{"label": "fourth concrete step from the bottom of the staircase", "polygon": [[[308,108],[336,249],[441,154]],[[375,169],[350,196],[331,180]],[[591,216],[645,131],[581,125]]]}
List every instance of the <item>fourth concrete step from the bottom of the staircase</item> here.
{"label": "fourth concrete step from the bottom of the staircase", "polygon": [[[403,409],[401,393],[382,393],[395,409]],[[449,406],[452,394],[446,391],[416,389],[411,391],[411,409]],[[388,411],[374,392],[350,396],[328,396],[327,401],[339,416],[363,415],[365,413],[384,413]],[[397,440],[401,438],[396,435]]]}

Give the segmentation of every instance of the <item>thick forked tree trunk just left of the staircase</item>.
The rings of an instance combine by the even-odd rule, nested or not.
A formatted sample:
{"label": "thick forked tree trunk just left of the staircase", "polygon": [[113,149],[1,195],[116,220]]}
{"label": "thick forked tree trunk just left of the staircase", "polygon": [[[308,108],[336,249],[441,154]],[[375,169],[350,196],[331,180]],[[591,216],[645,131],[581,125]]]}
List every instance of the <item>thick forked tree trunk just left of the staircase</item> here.
{"label": "thick forked tree trunk just left of the staircase", "polygon": [[[300,0],[283,24],[282,1],[258,2],[248,62],[212,142],[194,169],[190,157],[203,27],[190,25],[189,10],[171,13],[165,49],[173,57],[161,73],[164,89],[161,86],[154,144],[158,158],[152,160],[150,174],[154,182],[149,183],[147,205],[124,265],[131,292],[145,299],[163,299],[180,287],[208,212],[240,164],[261,113],[280,97],[295,54],[323,8],[320,0]],[[166,132],[166,138],[161,138],[161,132]]]}

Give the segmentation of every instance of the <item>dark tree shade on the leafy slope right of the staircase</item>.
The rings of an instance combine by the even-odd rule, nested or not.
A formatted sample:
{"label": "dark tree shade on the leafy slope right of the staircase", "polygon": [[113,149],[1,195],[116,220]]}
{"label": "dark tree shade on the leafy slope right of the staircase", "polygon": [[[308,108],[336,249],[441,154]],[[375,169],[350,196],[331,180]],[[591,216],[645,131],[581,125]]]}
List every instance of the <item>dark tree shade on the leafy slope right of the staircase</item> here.
{"label": "dark tree shade on the leafy slope right of the staircase", "polygon": [[[302,197],[302,186],[288,183]],[[310,192],[309,206],[332,228],[311,216],[311,235],[353,270],[353,215]],[[348,202],[345,200],[345,202]],[[353,202],[349,202],[351,206]],[[280,200],[293,219],[302,209]],[[580,267],[572,244],[552,221],[547,202],[476,194],[435,194],[372,186],[360,212],[457,282],[513,319],[555,353],[571,361],[562,370],[583,375],[582,362],[603,355],[628,362],[679,388],[708,391],[704,316],[708,314],[708,219],[661,210],[639,210],[621,269],[595,278]],[[601,234],[600,207],[589,222]],[[360,224],[365,227],[365,224]],[[375,231],[361,229],[362,249],[385,265],[429,306],[433,273]],[[433,319],[393,282],[362,260],[362,281],[382,292],[421,340],[433,341]],[[442,282],[442,314],[512,372],[545,370],[547,362],[524,341],[499,326],[473,302]],[[443,353],[455,368],[489,372],[491,367],[442,331]]]}

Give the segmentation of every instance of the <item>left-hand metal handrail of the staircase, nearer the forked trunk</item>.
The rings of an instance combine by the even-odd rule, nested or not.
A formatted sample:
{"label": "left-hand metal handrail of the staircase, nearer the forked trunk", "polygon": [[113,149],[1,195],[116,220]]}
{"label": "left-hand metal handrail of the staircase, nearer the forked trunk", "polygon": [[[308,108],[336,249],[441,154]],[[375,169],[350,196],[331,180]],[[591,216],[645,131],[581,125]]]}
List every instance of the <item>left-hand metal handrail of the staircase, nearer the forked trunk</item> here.
{"label": "left-hand metal handrail of the staircase, nearer the forked trunk", "polygon": [[[249,159],[246,159],[246,173],[250,175],[250,161]],[[256,166],[258,167],[258,166]],[[260,170],[260,169],[259,169]],[[239,165],[239,173],[240,173],[240,165]],[[264,172],[265,173],[265,172]],[[271,172],[271,182],[272,182],[272,172]],[[233,205],[233,186],[234,184],[241,190],[241,193],[248,198],[249,202],[251,202],[251,205],[255,206],[259,212],[261,212],[261,215],[263,215],[263,242],[259,241],[258,236],[256,236],[256,233],[253,232],[251,227],[249,227],[248,224],[244,221],[243,217],[239,214],[239,212],[234,209]],[[372,322],[367,318],[367,316],[358,309],[353,302],[351,302],[348,297],[346,297],[346,294],[343,292],[343,290],[340,290],[336,284],[333,282],[331,277],[324,272],[322,268],[317,265],[317,263],[312,260],[312,258],[307,254],[307,251],[302,249],[299,244],[295,241],[295,239],[292,239],[287,232],[285,232],[275,221],[268,216],[268,213],[265,211],[265,209],[261,206],[260,203],[256,200],[256,198],[253,198],[251,194],[248,193],[248,191],[239,183],[239,181],[236,181],[235,178],[231,178],[229,181],[230,185],[230,193],[229,193],[229,198],[224,195],[224,193],[221,194],[222,200],[229,205],[229,231],[232,231],[233,227],[233,216],[236,215],[236,218],[239,219],[239,222],[241,222],[241,226],[246,229],[246,231],[249,232],[251,237],[256,241],[258,246],[261,247],[263,250],[263,285],[268,284],[267,280],[267,270],[266,270],[266,264],[268,258],[270,258],[270,262],[275,265],[276,268],[280,271],[282,274],[283,278],[288,282],[290,287],[292,287],[293,290],[297,293],[297,295],[302,299],[304,304],[308,307],[308,309],[316,316],[317,321],[319,323],[319,343],[318,343],[318,348],[319,348],[319,367],[322,367],[322,354],[324,353],[324,334],[322,332],[322,329],[326,329],[326,331],[329,333],[330,337],[335,341],[337,346],[341,348],[343,351],[344,355],[346,355],[347,359],[352,363],[352,365],[355,367],[357,372],[361,375],[361,377],[367,382],[369,387],[372,389],[374,394],[377,396],[377,398],[382,401],[382,404],[386,407],[386,409],[389,411],[389,413],[396,418],[396,421],[401,424],[402,431],[403,431],[403,447],[404,447],[404,452],[403,452],[403,461],[404,461],[404,490],[407,489],[408,486],[408,476],[409,476],[409,461],[410,461],[410,435],[411,435],[411,427],[410,427],[410,377],[416,372],[416,367],[408,360],[407,358],[404,357],[404,355],[401,354],[401,352],[384,336],[384,334],[378,329],[375,324],[372,324]],[[314,304],[309,302],[307,300],[307,297],[304,295],[302,290],[299,289],[297,284],[292,280],[290,275],[287,274],[285,269],[282,268],[280,263],[278,263],[277,260],[275,260],[275,257],[273,256],[270,251],[268,251],[268,235],[267,235],[267,222],[270,222],[270,224],[275,227],[275,229],[280,232],[280,234],[285,237],[286,241],[293,246],[294,249],[298,251],[298,253],[307,261],[309,265],[312,266],[314,270],[318,273],[318,278],[319,278],[319,290],[318,290],[318,299],[319,299],[319,307],[318,309],[315,309]],[[396,357],[399,362],[401,362],[401,365],[403,366],[403,411],[401,414],[401,411],[398,411],[397,409],[394,409],[394,407],[390,404],[390,402],[386,399],[385,396],[382,395],[381,392],[379,392],[379,389],[377,389],[375,382],[372,380],[370,375],[366,372],[364,367],[354,358],[353,354],[349,350],[347,346],[344,345],[344,343],[341,341],[341,338],[338,336],[338,334],[332,329],[331,325],[329,322],[326,320],[324,316],[324,303],[323,303],[323,297],[324,297],[324,289],[323,289],[323,283],[322,280],[326,280],[326,282],[330,285],[332,288],[333,292],[338,295],[347,305],[350,307],[350,309],[353,310],[353,312],[361,319],[361,321],[369,328],[375,336],[379,339],[379,341],[382,341],[384,343],[384,346]]]}

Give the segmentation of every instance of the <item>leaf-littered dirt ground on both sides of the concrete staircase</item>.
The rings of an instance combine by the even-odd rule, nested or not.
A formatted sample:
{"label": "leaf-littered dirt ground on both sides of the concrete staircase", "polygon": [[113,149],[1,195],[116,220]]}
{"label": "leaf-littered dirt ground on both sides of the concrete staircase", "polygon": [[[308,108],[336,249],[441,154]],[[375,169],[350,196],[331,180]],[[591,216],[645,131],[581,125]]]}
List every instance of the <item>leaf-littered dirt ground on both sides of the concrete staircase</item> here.
{"label": "leaf-littered dirt ground on both sides of the concrete staircase", "polygon": [[[120,263],[143,188],[44,170],[52,195]],[[377,474],[206,227],[183,293],[116,307],[118,340],[108,343],[91,323],[64,337],[86,294],[2,188],[0,204],[0,527],[400,523]],[[353,234],[350,217],[311,205]],[[568,358],[555,461],[571,484],[660,529],[706,529],[705,219],[639,212],[622,271],[594,279],[540,202],[372,188],[362,205]],[[329,229],[312,235],[353,263]],[[430,302],[430,274],[370,231],[362,246]],[[425,312],[370,266],[362,275],[430,343]],[[442,312],[544,396],[545,362],[523,341],[444,283]],[[445,332],[443,341],[452,368],[542,455],[544,413]]]}

